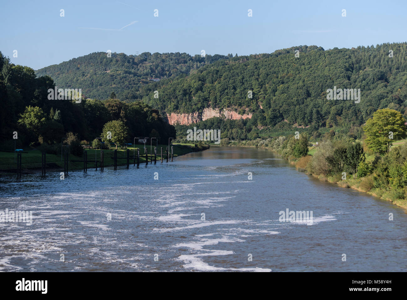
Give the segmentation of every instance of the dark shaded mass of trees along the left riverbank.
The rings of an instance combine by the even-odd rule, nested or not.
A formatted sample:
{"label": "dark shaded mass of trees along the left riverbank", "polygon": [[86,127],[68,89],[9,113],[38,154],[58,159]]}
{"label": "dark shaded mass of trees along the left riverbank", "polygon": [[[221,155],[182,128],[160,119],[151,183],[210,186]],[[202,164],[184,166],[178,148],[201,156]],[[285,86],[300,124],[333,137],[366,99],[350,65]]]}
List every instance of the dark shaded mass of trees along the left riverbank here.
{"label": "dark shaded mass of trees along the left riverbank", "polygon": [[148,104],[140,101],[127,104],[115,99],[114,93],[111,99],[107,96],[104,101],[49,100],[48,89],[55,86],[51,77],[36,77],[33,69],[11,64],[1,52],[0,70],[2,149],[14,150],[13,132],[18,133],[18,147],[56,145],[63,137],[91,142],[101,136],[103,127],[111,121],[123,124],[127,132],[126,143],[132,143],[133,137],[153,135],[166,141],[175,136],[174,126]]}

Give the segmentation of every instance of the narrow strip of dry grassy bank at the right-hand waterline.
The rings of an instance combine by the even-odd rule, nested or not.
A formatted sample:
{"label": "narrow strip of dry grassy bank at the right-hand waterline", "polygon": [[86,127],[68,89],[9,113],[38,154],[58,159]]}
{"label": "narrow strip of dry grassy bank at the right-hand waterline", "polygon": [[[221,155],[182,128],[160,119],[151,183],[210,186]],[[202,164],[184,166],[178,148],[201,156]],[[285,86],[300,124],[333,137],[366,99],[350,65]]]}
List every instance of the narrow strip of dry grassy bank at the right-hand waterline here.
{"label": "narrow strip of dry grassy bank at the right-hand waterline", "polygon": [[[278,153],[276,150],[274,150],[271,147],[265,146],[264,142],[263,142],[263,144],[261,144],[259,146],[260,143],[261,143],[261,140],[260,140],[260,142],[259,141],[243,141],[240,143],[232,142],[232,143],[228,144],[227,146],[228,147],[266,148],[266,149],[269,149],[269,150],[273,151],[274,153],[280,155],[282,158],[284,158],[281,155],[281,153]],[[309,154],[311,154],[311,152],[312,152],[312,154],[314,154],[315,147],[309,147],[309,148],[310,148]],[[348,174],[346,179],[342,179],[341,174],[336,174],[334,176],[324,176],[324,175],[313,174],[312,172],[309,172],[309,170],[307,168],[311,158],[312,158],[312,155],[307,155],[306,157],[302,157],[300,159],[293,159],[292,157],[288,158],[288,159],[287,158],[284,158],[284,159],[289,161],[289,163],[291,163],[291,165],[295,166],[295,168],[299,172],[304,172],[305,174],[307,174],[309,176],[313,176],[313,177],[319,179],[319,181],[323,181],[323,182],[327,181],[329,183],[336,183],[341,188],[352,188],[354,190],[357,190],[359,192],[364,192],[366,194],[380,198],[382,200],[390,201],[393,204],[395,204],[399,207],[402,207],[405,210],[405,212],[407,213],[407,199],[400,199],[398,197],[397,191],[394,191],[392,189],[384,190],[381,188],[374,188],[372,174],[362,177],[362,178],[357,178],[357,179],[353,179],[351,174]]]}

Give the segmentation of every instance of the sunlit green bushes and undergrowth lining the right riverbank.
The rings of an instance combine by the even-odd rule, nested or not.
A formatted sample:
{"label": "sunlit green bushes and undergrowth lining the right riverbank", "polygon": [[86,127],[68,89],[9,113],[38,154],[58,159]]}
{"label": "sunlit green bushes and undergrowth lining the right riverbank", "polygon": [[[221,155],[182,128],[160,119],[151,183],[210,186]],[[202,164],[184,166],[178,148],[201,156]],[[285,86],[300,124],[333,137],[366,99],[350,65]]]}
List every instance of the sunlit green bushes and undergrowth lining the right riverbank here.
{"label": "sunlit green bushes and undergrowth lining the right riverbank", "polygon": [[[320,181],[353,188],[407,209],[407,141],[384,153],[372,153],[365,142],[328,134],[318,145],[304,135],[231,142],[223,146],[268,148],[298,171]],[[311,155],[310,155],[311,154]]]}

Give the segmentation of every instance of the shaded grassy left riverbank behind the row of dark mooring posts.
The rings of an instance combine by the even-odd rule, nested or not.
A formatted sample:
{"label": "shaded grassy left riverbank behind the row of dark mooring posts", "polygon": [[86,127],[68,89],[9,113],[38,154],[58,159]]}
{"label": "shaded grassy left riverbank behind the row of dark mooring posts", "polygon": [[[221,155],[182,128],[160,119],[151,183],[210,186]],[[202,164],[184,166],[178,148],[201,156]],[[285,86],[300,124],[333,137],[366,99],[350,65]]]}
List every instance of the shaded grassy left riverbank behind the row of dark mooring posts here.
{"label": "shaded grassy left riverbank behind the row of dark mooring posts", "polygon": [[[138,145],[135,145],[138,146]],[[163,159],[166,160],[165,150],[168,145],[158,145],[157,147],[157,161],[161,160],[161,148]],[[137,149],[140,149],[140,164],[146,163],[146,157],[143,150],[144,146],[141,147],[129,147],[129,157],[130,164],[133,164],[133,158],[137,160]],[[150,146],[146,145],[148,152],[150,152]],[[194,144],[174,144],[173,145],[173,157],[179,157],[184,154],[191,152],[203,151],[209,149],[209,145],[194,145]],[[151,148],[154,151],[154,147]],[[88,149],[88,169],[96,168],[95,161],[100,161],[100,150]],[[126,149],[117,149],[117,157],[120,158],[117,161],[118,166],[126,165]],[[104,167],[112,167],[114,165],[113,154],[114,149],[104,150]],[[149,154],[150,156],[150,154]],[[17,164],[14,163],[14,153],[13,152],[0,152],[0,176],[9,176],[14,173]],[[170,149],[171,158],[171,149]],[[23,173],[35,173],[41,171],[41,159],[42,154],[39,150],[31,149],[22,152],[22,172]],[[83,160],[83,157],[69,155],[69,170],[82,170],[83,162],[71,162]],[[53,170],[63,170],[63,160],[61,154],[46,154],[47,172]],[[100,163],[98,163],[98,167]]]}

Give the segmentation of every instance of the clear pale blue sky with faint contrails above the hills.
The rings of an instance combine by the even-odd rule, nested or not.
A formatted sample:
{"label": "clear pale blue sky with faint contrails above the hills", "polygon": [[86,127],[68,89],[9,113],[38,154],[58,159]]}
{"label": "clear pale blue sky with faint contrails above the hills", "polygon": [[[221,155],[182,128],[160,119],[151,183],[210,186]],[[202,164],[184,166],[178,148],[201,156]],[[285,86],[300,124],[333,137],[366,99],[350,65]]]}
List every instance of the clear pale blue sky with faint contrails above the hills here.
{"label": "clear pale blue sky with faint contrails above the hills", "polygon": [[249,55],[299,45],[376,46],[407,41],[406,14],[406,0],[2,0],[0,51],[38,69],[108,49]]}

